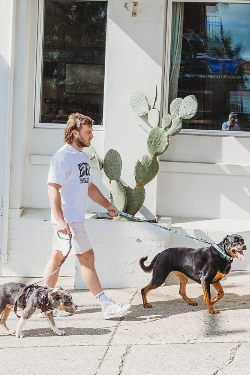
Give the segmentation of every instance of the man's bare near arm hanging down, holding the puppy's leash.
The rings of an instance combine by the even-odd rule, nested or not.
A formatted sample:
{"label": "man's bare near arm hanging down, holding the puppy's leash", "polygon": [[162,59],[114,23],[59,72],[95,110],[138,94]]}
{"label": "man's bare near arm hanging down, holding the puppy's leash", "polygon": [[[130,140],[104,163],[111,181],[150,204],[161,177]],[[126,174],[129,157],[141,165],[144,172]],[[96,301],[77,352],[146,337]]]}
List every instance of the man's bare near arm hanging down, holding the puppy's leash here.
{"label": "man's bare near arm hanging down, holding the puppy's leash", "polygon": [[57,230],[60,233],[70,235],[69,225],[66,223],[63,217],[63,211],[61,209],[61,196],[59,190],[61,189],[61,185],[48,183],[48,196],[49,196],[49,203],[52,210],[52,213],[55,217],[57,222]]}

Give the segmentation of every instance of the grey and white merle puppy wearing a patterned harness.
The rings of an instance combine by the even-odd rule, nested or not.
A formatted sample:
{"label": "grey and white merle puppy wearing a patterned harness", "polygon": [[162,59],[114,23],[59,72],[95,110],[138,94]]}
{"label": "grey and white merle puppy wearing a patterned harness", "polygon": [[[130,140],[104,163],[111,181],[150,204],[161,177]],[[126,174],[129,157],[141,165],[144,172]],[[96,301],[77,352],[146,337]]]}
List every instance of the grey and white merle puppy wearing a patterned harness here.
{"label": "grey and white merle puppy wearing a patterned harness", "polygon": [[[27,304],[25,308],[23,307],[23,300],[25,298],[25,295],[22,294],[22,296],[19,297],[17,306],[21,309],[23,309],[22,316],[18,322],[18,326],[16,329],[16,332],[10,331],[8,327],[6,326],[6,319],[9,316],[9,313],[11,309],[14,307],[16,299],[19,295],[19,293],[26,288],[27,285],[21,284],[21,283],[15,283],[15,282],[9,282],[3,285],[0,285],[0,324],[3,327],[5,333],[7,335],[13,335],[16,334],[17,338],[23,338],[24,335],[22,333],[22,329],[27,322],[28,318],[31,317],[32,314],[39,314],[41,312],[41,309],[39,307],[39,294],[41,291],[44,290],[43,287],[37,287],[34,289],[33,293],[30,295],[30,297],[27,300]],[[73,314],[76,309],[77,305],[73,303],[72,297],[68,292],[63,290],[60,287],[57,288],[49,288],[48,289],[48,295],[47,300],[49,303],[49,307],[51,309],[55,310],[65,310],[67,312],[70,312]],[[45,312],[46,318],[49,322],[49,325],[54,333],[57,335],[65,335],[64,331],[59,330],[55,326],[54,318],[53,318],[53,311],[49,310]]]}

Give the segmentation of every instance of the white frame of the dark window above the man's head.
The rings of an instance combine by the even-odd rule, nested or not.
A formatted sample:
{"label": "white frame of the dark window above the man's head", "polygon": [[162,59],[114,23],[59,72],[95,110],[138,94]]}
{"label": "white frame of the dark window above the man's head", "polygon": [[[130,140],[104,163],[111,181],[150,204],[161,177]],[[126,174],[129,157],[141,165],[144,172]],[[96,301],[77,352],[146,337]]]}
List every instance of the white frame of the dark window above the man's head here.
{"label": "white frame of the dark window above the man's head", "polygon": [[[75,0],[67,0],[75,1]],[[96,1],[96,0],[81,0],[81,1]],[[107,0],[98,0],[107,1]],[[42,95],[42,58],[43,58],[43,27],[44,27],[44,2],[39,1],[38,6],[38,27],[37,27],[37,56],[36,56],[36,90],[35,90],[35,113],[34,113],[34,127],[46,129],[64,129],[65,123],[41,123],[40,120],[40,100]],[[107,79],[107,50],[108,50],[108,19],[109,19],[109,1],[107,1],[107,20],[106,20],[106,41],[105,41],[105,73],[104,73],[104,90],[103,90],[103,123],[102,125],[93,125],[93,130],[105,129],[106,117],[106,79]]]}

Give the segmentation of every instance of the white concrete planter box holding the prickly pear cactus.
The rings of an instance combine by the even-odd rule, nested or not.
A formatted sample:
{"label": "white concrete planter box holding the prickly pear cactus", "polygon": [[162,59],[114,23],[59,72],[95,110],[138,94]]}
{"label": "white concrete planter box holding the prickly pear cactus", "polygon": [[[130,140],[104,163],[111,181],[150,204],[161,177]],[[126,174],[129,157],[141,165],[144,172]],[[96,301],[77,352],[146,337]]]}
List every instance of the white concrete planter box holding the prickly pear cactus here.
{"label": "white concrete planter box holding the prickly pear cactus", "polygon": [[[171,228],[171,218],[161,218],[159,225]],[[150,223],[86,219],[95,254],[95,267],[102,288],[143,287],[151,279],[139,266],[141,257],[153,257],[170,245],[170,232]],[[76,259],[75,289],[87,289]]]}

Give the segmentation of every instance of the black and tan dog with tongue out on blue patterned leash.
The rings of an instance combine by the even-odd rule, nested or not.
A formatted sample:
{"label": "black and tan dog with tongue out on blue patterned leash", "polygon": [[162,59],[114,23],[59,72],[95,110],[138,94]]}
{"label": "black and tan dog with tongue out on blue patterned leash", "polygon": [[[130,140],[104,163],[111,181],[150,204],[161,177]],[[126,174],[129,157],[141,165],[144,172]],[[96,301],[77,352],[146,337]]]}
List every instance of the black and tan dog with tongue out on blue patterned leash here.
{"label": "black and tan dog with tongue out on blue patterned leash", "polygon": [[[243,250],[247,247],[244,240],[238,234],[226,236],[217,246],[225,252],[229,257],[237,257],[243,261],[245,259]],[[151,308],[152,305],[147,302],[147,294],[153,289],[162,285],[168,275],[173,273],[180,281],[179,293],[189,305],[195,306],[197,303],[190,300],[186,295],[186,285],[188,279],[192,279],[202,285],[205,305],[212,314],[219,311],[214,309],[212,305],[224,296],[223,288],[220,280],[228,275],[232,259],[228,260],[223,254],[220,254],[213,245],[208,248],[170,248],[157,254],[149,266],[145,266],[144,262],[148,257],[141,258],[140,266],[145,272],[153,270],[153,277],[150,283],[142,288],[142,301],[145,308]],[[211,301],[210,285],[218,292],[217,297]]]}

